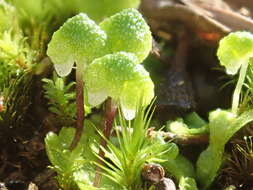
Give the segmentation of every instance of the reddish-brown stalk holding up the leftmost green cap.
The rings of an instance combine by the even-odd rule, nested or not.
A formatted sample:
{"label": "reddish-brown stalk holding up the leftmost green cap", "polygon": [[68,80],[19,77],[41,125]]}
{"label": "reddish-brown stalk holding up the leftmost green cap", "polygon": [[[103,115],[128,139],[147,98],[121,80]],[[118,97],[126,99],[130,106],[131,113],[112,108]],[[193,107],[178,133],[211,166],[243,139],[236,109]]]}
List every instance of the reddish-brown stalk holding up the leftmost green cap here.
{"label": "reddish-brown stalk holding up the leftmost green cap", "polygon": [[71,143],[70,150],[73,150],[81,139],[84,125],[84,93],[83,93],[83,64],[76,64],[76,133]]}

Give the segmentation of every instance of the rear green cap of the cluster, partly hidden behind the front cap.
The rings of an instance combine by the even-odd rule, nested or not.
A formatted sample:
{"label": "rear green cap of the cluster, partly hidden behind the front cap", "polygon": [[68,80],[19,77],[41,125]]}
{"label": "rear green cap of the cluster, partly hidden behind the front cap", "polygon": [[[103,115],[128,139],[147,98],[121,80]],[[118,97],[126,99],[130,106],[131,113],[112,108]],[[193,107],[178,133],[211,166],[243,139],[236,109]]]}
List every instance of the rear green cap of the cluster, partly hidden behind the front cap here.
{"label": "rear green cap of the cluster, partly hidden behind the front cap", "polygon": [[111,52],[134,53],[138,63],[149,54],[152,47],[151,32],[136,9],[124,9],[104,20],[100,26],[108,35],[107,48]]}

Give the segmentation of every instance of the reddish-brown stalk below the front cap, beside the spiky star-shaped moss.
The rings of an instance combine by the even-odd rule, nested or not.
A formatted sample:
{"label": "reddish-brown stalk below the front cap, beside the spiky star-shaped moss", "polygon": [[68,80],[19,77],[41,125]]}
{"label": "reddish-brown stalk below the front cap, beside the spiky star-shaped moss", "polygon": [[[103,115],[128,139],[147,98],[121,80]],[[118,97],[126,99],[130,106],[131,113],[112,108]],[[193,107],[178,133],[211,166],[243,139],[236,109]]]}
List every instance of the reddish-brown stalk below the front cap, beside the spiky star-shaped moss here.
{"label": "reddish-brown stalk below the front cap, beside the spiky star-shaped moss", "polygon": [[[104,118],[104,122],[103,122],[104,138],[101,139],[100,146],[106,147],[106,145],[107,145],[105,138],[109,139],[109,137],[111,135],[112,125],[113,125],[113,121],[116,116],[116,113],[117,113],[117,106],[113,103],[111,98],[108,98],[106,100],[105,118]],[[105,156],[104,151],[101,148],[99,148],[99,157],[104,158],[104,156]],[[103,161],[100,159],[98,160],[98,162],[99,162],[99,164],[103,164]],[[97,167],[93,186],[95,186],[95,187],[99,186],[101,177],[102,177],[101,176],[101,168]]]}

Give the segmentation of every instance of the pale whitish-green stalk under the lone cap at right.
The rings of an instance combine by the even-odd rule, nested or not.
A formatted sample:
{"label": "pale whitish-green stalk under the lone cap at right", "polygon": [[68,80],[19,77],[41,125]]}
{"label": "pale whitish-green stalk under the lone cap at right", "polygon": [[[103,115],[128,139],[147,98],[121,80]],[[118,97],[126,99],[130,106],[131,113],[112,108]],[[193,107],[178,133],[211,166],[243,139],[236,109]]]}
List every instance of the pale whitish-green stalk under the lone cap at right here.
{"label": "pale whitish-green stalk under the lone cap at right", "polygon": [[247,73],[247,68],[248,68],[248,63],[244,63],[241,66],[240,73],[239,73],[239,79],[237,81],[235,91],[233,94],[233,100],[232,100],[232,112],[234,114],[237,114],[238,106],[239,106],[239,101],[240,101],[240,92],[246,77]]}

